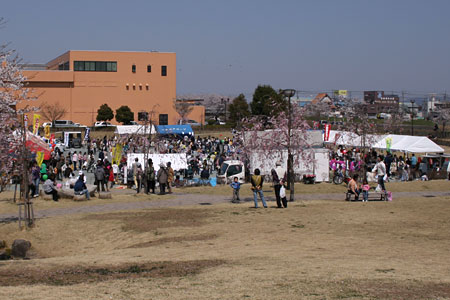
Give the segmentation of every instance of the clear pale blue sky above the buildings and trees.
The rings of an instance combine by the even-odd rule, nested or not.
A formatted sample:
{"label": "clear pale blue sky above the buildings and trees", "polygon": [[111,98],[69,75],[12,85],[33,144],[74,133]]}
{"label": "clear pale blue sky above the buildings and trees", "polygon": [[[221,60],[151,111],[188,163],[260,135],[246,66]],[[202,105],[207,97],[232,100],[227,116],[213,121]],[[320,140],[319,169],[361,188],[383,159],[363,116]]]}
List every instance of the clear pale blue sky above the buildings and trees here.
{"label": "clear pale blue sky above the buildings and trees", "polygon": [[29,63],[74,50],[177,53],[177,91],[450,91],[449,0],[4,0]]}

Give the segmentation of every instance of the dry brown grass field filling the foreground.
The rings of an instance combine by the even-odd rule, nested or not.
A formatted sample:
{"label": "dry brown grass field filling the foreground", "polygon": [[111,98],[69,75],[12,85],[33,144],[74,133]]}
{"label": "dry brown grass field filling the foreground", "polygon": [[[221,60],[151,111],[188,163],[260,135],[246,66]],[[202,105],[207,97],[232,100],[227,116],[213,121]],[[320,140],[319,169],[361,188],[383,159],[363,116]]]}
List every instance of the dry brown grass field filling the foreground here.
{"label": "dry brown grass field filling the foreground", "polygon": [[[446,191],[450,183],[389,185]],[[343,191],[329,184],[299,185],[297,191],[302,188]],[[211,197],[229,192],[196,189]],[[132,197],[113,201],[149,201]],[[29,230],[2,223],[0,240],[25,238],[33,248],[30,260],[0,262],[0,297],[450,299],[449,196],[251,207],[243,202],[72,214],[39,219]]]}

